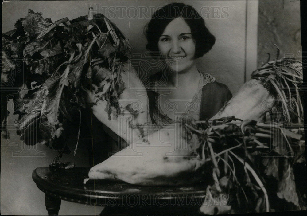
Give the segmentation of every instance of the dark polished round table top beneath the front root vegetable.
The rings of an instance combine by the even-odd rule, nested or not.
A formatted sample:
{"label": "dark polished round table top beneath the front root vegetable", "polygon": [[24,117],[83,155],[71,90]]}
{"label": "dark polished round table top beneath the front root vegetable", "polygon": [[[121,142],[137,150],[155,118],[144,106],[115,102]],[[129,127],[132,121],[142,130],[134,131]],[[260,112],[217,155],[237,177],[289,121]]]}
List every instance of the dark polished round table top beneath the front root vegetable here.
{"label": "dark polished round table top beneath the front root vegetable", "polygon": [[[180,186],[140,186],[126,182],[109,180],[89,180],[90,167],[74,167],[51,171],[48,167],[39,167],[33,171],[32,178],[37,187],[45,194],[70,202],[87,205],[121,205],[126,202],[145,204],[185,205],[185,202],[201,205],[206,195],[204,183]],[[150,203],[149,203],[150,202]],[[167,204],[166,204],[167,205]]]}

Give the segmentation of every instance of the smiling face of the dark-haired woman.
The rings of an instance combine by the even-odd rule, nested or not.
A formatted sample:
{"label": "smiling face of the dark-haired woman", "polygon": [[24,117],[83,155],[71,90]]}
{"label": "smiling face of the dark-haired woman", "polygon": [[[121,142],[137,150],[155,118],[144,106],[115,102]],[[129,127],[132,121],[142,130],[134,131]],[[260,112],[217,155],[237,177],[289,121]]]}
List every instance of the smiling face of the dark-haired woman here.
{"label": "smiling face of the dark-haired woman", "polygon": [[194,65],[195,42],[183,18],[173,19],[159,38],[158,49],[171,72],[184,73]]}

